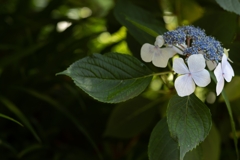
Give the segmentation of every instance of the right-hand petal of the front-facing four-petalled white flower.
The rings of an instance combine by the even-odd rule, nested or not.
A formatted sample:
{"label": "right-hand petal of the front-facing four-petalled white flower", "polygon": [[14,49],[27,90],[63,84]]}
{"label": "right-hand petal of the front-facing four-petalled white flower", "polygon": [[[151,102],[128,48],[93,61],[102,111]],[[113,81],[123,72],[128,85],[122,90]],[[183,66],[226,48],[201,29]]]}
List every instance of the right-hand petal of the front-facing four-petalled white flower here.
{"label": "right-hand petal of the front-facing four-petalled white flower", "polygon": [[210,74],[206,69],[191,74],[194,82],[199,87],[206,87],[211,82]]}

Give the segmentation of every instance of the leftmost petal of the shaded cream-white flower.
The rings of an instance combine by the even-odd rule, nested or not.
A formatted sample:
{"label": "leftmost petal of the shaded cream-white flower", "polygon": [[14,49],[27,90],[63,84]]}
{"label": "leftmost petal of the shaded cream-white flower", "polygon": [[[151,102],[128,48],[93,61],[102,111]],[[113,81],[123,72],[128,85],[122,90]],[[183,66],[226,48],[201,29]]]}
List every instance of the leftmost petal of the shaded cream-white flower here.
{"label": "leftmost petal of the shaded cream-white flower", "polygon": [[145,43],[141,48],[141,58],[144,62],[151,62],[153,58],[153,53],[155,46]]}

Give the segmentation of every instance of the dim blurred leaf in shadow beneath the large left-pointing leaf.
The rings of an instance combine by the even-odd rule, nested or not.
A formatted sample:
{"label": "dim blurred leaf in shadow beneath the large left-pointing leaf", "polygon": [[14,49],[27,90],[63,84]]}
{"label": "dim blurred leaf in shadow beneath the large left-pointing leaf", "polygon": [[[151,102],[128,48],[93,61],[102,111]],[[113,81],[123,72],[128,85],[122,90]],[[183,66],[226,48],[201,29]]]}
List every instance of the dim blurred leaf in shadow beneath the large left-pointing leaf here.
{"label": "dim blurred leaf in shadow beneath the large left-pointing leaf", "polygon": [[110,115],[104,135],[131,138],[140,134],[155,118],[158,103],[159,100],[150,102],[137,97],[117,105]]}

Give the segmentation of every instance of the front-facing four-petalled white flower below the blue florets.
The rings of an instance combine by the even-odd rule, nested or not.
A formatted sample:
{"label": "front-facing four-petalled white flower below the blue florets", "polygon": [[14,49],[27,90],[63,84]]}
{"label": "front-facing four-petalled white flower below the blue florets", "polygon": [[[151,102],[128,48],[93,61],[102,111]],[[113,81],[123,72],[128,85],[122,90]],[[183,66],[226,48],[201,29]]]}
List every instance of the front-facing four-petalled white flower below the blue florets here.
{"label": "front-facing four-petalled white flower below the blue florets", "polygon": [[189,69],[182,58],[173,61],[173,70],[181,74],[174,83],[177,93],[181,97],[192,94],[196,87],[195,84],[205,87],[211,82],[209,72],[204,69],[206,63],[203,55],[191,55],[187,63]]}

